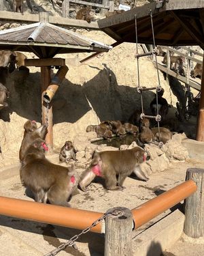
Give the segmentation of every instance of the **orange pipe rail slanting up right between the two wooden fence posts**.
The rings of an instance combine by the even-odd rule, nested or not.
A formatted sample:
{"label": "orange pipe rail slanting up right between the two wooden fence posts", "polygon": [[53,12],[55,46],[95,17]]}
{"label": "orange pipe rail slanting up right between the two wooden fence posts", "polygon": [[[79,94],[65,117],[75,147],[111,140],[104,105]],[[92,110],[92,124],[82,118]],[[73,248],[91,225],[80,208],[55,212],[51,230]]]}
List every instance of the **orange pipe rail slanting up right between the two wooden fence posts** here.
{"label": "orange pipe rail slanting up right between the two wooden fence posts", "polygon": [[182,184],[171,188],[165,193],[154,197],[153,199],[139,205],[137,208],[131,210],[133,214],[133,221],[135,223],[134,229],[141,227],[141,225],[152,220],[159,214],[165,212],[180,201],[186,199],[197,190],[197,185],[192,180],[183,182]]}

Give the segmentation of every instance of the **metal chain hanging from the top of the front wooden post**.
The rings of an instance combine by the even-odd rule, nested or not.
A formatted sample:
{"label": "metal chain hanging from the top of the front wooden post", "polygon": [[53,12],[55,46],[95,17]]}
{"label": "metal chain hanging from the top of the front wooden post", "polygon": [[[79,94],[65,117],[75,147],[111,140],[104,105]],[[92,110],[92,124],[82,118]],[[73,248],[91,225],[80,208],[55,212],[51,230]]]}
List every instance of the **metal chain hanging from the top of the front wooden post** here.
{"label": "metal chain hanging from the top of the front wooden post", "polygon": [[81,233],[79,233],[78,235],[73,236],[72,238],[70,238],[68,240],[68,242],[65,242],[63,244],[61,244],[60,246],[58,246],[56,249],[54,249],[53,251],[51,251],[50,253],[45,254],[44,256],[54,256],[56,255],[58,252],[64,250],[67,246],[73,246],[73,248],[78,249],[77,246],[75,245],[75,240],[78,240],[78,238],[80,236],[82,236],[82,234],[87,233],[88,231],[90,231],[90,229],[92,229],[92,227],[97,226],[99,223],[101,223],[101,221],[103,221],[107,216],[109,215],[114,215],[114,216],[118,216],[118,215],[122,215],[123,212],[120,210],[114,210],[113,212],[108,212],[103,214],[103,216],[101,216],[100,218],[97,218],[96,221],[94,221],[89,227],[86,227],[86,229],[83,229]]}

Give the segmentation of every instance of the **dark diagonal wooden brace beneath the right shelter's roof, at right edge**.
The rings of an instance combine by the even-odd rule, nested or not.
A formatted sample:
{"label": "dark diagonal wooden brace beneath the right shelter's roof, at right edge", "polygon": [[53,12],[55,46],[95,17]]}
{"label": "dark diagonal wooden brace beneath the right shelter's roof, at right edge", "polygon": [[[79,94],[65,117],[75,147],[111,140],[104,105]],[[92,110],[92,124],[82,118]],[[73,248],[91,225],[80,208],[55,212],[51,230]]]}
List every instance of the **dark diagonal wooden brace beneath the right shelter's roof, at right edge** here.
{"label": "dark diagonal wooden brace beneath the right shelter's roof, at right edge", "polygon": [[189,35],[196,40],[196,42],[204,49],[204,40],[203,36],[192,27],[192,25],[188,22],[188,20],[184,20],[177,16],[175,12],[170,11],[170,14],[178,23],[189,33]]}

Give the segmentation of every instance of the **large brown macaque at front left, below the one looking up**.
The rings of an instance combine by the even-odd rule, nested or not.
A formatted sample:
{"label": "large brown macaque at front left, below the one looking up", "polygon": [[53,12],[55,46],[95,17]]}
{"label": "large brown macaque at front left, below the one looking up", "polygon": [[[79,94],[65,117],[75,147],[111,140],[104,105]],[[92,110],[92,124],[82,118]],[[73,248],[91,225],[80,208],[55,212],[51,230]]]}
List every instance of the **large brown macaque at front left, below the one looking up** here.
{"label": "large brown macaque at front left, below the one looking up", "polygon": [[70,207],[67,200],[76,186],[75,170],[54,165],[45,157],[47,150],[46,143],[40,138],[29,145],[20,167],[20,180],[30,188],[35,201]]}

